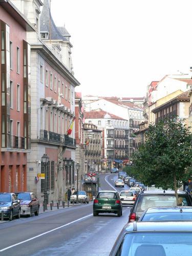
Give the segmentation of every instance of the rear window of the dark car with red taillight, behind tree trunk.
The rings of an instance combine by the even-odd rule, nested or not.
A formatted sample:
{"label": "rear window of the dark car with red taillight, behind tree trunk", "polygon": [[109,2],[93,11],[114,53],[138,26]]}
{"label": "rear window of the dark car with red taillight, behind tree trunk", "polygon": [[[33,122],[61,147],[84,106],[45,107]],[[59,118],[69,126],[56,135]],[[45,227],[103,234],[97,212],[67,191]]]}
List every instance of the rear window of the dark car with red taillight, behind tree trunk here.
{"label": "rear window of the dark car with red taillight, behind tree trunk", "polygon": [[[181,206],[191,206],[188,197],[179,195]],[[156,206],[177,206],[175,195],[145,195],[139,198],[137,211],[144,211],[150,207]]]}

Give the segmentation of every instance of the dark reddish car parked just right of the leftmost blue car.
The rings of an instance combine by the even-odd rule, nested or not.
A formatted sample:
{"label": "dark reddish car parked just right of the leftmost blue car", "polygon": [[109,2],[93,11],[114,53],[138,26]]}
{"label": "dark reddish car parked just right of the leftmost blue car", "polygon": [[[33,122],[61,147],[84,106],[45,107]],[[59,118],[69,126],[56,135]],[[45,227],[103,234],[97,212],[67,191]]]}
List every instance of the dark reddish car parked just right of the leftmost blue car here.
{"label": "dark reddish car parked just right of the leftmost blue car", "polygon": [[39,215],[39,200],[32,192],[19,192],[15,193],[20,200],[20,215],[31,217],[34,213]]}

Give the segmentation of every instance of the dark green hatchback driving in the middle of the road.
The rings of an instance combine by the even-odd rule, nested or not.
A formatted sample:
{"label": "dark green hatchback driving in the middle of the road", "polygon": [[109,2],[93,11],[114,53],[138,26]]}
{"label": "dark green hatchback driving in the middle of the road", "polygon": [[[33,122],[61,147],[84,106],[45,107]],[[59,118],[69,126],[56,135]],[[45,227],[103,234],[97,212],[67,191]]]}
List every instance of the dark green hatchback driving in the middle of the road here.
{"label": "dark green hatchback driving in the middle of the road", "polygon": [[93,201],[93,216],[105,212],[117,214],[118,217],[122,215],[122,203],[117,191],[102,190],[98,192]]}

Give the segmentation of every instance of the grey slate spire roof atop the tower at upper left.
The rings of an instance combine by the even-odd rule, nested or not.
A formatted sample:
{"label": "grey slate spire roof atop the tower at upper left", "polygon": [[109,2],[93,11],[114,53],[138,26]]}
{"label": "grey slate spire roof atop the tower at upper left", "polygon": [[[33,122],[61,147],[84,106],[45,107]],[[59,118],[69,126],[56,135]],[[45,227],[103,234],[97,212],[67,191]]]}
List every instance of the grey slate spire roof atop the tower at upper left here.
{"label": "grey slate spire roof atop the tower at upper left", "polygon": [[[51,23],[50,23],[50,20],[51,20]],[[50,27],[51,27],[51,31],[50,31]],[[45,29],[47,29],[47,30],[45,30]],[[49,0],[44,0],[44,6],[42,7],[42,11],[41,11],[41,15],[40,15],[40,31],[41,32],[46,32],[46,31],[49,32],[48,39],[69,41],[69,39],[66,38],[65,36],[63,36],[63,34],[62,34],[64,32],[64,30],[65,30],[64,28],[61,29],[61,27],[59,27],[59,29],[58,29],[56,27],[54,20],[53,20],[52,16],[50,15]],[[65,33],[66,34],[68,33],[67,30]],[[51,38],[50,38],[50,35],[51,35]]]}

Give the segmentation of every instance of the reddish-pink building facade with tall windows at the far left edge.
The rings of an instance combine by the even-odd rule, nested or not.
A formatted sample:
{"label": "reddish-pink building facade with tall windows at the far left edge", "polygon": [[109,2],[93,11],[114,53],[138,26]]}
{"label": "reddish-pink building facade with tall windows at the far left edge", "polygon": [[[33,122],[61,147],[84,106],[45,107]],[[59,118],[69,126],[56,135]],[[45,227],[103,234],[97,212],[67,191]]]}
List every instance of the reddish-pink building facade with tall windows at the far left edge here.
{"label": "reddish-pink building facade with tall windows at the far left edge", "polygon": [[30,152],[30,46],[32,24],[10,1],[0,2],[0,191],[27,189]]}

